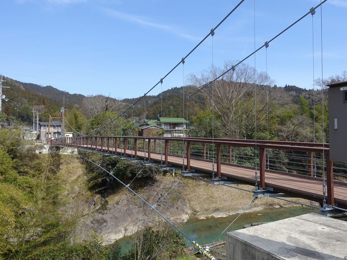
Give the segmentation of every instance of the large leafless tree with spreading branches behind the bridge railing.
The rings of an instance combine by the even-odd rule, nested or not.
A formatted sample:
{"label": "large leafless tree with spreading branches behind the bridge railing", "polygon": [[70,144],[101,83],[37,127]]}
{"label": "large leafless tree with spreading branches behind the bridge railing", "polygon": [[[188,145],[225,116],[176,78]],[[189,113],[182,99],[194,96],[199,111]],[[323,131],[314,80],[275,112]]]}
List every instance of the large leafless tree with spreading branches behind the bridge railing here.
{"label": "large leafless tree with spreading branches behind the bridge railing", "polygon": [[[211,68],[199,77],[191,75],[189,81],[199,88],[226,72],[232,64],[235,63],[228,61],[223,68]],[[266,118],[273,109],[271,100],[274,97],[267,96],[271,84],[266,73],[258,73],[241,63],[201,91],[211,110],[214,104],[213,110],[220,117],[223,136],[246,138],[254,130],[255,122],[258,124]]]}

